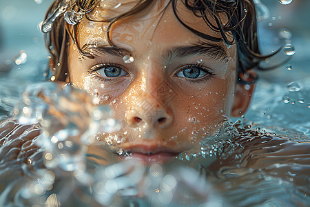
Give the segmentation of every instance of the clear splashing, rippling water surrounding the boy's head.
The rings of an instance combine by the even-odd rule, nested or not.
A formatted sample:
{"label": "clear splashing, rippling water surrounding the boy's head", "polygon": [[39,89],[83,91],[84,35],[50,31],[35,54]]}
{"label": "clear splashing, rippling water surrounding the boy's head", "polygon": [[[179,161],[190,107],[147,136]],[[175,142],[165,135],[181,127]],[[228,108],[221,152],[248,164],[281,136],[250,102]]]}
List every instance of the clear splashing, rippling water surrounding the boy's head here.
{"label": "clear splashing, rippling water surrounding the boy's head", "polygon": [[[273,21],[267,19],[266,26]],[[261,28],[264,31],[264,25]],[[212,140],[225,141],[183,153],[172,164],[152,166],[114,161],[106,148],[92,146],[93,139],[87,138],[99,130],[98,120],[109,118],[108,108],[100,108],[106,112],[100,118],[92,114],[92,133],[87,130],[90,123],[78,126],[79,114],[74,112],[66,112],[65,126],[50,117],[48,106],[36,98],[37,89],[45,88],[44,94],[61,112],[56,100],[76,101],[70,96],[72,89],[62,91],[50,83],[33,86],[49,76],[48,54],[42,55],[45,50],[37,44],[21,48],[27,48],[26,57],[20,49],[10,64],[1,65],[0,117],[36,119],[43,127],[12,121],[1,125],[0,206],[309,206],[310,51],[300,52],[304,49],[298,44],[307,43],[299,42],[300,34],[293,39],[291,69],[282,66],[262,74],[242,123],[232,121],[238,136],[218,133]],[[270,46],[268,35],[273,34],[265,34],[262,45]],[[22,96],[29,85],[28,95]],[[53,91],[57,97],[52,97]],[[105,130],[117,127],[117,121],[111,121]],[[65,130],[55,135],[56,128]],[[68,139],[68,132],[73,138]],[[74,138],[81,134],[81,139]]]}

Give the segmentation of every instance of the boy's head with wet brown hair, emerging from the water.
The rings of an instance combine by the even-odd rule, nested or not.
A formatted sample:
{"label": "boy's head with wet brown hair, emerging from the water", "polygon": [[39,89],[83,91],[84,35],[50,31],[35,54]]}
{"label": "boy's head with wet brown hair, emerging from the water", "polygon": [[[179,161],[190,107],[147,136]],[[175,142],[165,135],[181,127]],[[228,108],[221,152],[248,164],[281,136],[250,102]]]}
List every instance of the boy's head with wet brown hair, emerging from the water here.
{"label": "boy's head with wet brown hair, emerging from the water", "polygon": [[124,126],[112,152],[169,160],[247,110],[262,59],[252,1],[54,1],[48,16],[65,3],[52,78],[110,104]]}

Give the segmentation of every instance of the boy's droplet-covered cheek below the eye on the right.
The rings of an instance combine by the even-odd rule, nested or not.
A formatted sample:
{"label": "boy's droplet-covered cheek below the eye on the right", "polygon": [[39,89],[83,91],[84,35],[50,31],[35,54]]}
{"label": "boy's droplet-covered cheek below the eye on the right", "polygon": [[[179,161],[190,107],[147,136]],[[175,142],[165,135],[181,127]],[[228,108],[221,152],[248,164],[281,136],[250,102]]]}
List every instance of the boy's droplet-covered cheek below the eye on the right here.
{"label": "boy's droplet-covered cheek below the eye on the right", "polygon": [[219,122],[230,115],[230,81],[214,79],[205,88],[197,88],[188,93],[179,93],[172,100],[176,126],[187,128],[193,134],[214,134]]}

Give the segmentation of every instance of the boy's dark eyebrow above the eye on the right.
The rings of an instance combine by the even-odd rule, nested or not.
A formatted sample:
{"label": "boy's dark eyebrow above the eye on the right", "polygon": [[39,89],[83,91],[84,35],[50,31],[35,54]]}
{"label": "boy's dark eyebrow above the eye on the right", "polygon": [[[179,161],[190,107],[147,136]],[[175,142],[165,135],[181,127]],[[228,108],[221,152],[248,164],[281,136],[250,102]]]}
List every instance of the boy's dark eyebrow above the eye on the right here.
{"label": "boy's dark eyebrow above the eye on the right", "polygon": [[208,55],[211,59],[224,61],[228,55],[225,48],[216,43],[199,42],[192,46],[172,48],[165,54],[165,59],[183,58],[194,55]]}

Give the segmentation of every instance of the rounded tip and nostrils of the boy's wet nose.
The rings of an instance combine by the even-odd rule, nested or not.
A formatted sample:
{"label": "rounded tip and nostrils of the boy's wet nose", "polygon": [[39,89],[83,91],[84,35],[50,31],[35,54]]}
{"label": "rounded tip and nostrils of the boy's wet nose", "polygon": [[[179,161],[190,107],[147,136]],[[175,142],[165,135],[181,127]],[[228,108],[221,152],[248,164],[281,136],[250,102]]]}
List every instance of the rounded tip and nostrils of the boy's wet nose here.
{"label": "rounded tip and nostrils of the boy's wet nose", "polygon": [[143,125],[153,128],[168,128],[172,121],[172,111],[169,108],[146,99],[138,104],[138,107],[127,112],[127,124],[132,128]]}

